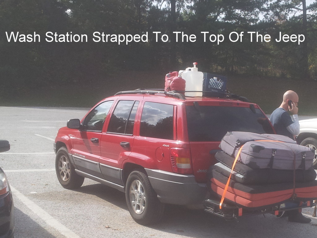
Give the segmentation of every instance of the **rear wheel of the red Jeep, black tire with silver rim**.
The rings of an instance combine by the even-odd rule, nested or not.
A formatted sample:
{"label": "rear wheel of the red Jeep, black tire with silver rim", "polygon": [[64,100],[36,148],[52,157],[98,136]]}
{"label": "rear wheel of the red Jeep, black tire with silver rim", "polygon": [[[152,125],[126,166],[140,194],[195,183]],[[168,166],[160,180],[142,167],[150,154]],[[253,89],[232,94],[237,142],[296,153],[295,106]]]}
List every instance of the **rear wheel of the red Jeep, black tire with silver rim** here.
{"label": "rear wheel of the red Jeep, black tire with silver rim", "polygon": [[165,205],[159,201],[144,171],[132,171],[126,182],[126,204],[133,220],[150,225],[162,219]]}

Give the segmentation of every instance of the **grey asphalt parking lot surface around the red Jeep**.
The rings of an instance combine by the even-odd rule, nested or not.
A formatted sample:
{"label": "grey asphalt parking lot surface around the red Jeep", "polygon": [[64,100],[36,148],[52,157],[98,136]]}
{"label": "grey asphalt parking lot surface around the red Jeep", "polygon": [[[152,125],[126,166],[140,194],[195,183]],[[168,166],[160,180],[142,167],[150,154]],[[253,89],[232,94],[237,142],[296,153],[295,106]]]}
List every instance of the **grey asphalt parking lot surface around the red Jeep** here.
{"label": "grey asphalt parking lot surface around the red Jeep", "polygon": [[[0,166],[13,191],[15,238],[316,237],[316,218],[297,224],[258,215],[235,222],[172,205],[166,207],[161,223],[145,227],[133,221],[124,194],[115,189],[89,179],[77,190],[62,188],[55,174],[53,141],[68,119],[81,119],[87,111],[0,107],[0,138],[11,145],[10,151],[0,154]],[[303,210],[308,217],[312,213],[313,208]]]}

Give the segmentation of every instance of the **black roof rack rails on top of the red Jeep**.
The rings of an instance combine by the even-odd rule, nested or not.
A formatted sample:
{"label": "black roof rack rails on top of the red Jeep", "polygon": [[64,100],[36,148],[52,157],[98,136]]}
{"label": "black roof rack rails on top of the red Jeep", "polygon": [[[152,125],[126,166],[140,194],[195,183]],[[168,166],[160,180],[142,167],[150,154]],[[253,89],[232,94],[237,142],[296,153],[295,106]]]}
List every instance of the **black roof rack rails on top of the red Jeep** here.
{"label": "black roof rack rails on top of the red Jeep", "polygon": [[203,97],[216,97],[216,98],[227,98],[227,99],[236,99],[239,101],[243,101],[243,102],[250,102],[247,98],[245,97],[241,97],[239,95],[236,94],[232,94],[232,93],[219,93],[219,92],[210,92],[210,91],[168,91],[166,92],[164,89],[142,89],[142,88],[138,88],[135,90],[131,90],[131,91],[120,91],[114,95],[120,95],[120,94],[165,94],[165,95],[169,95],[172,97],[176,97],[178,99],[181,100],[185,100],[185,95],[183,93],[192,93],[192,92],[202,92],[203,93]]}

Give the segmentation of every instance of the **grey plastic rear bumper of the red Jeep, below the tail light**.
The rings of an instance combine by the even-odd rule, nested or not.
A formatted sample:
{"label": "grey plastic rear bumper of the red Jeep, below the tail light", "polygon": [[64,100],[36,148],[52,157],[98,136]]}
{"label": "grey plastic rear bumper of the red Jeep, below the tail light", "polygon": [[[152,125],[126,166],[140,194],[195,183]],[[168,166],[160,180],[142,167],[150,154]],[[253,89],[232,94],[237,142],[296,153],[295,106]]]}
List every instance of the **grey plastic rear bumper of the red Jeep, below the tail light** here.
{"label": "grey plastic rear bumper of the red Jeep, below the tail light", "polygon": [[207,196],[205,183],[197,183],[193,175],[145,169],[160,202],[193,205],[201,204]]}

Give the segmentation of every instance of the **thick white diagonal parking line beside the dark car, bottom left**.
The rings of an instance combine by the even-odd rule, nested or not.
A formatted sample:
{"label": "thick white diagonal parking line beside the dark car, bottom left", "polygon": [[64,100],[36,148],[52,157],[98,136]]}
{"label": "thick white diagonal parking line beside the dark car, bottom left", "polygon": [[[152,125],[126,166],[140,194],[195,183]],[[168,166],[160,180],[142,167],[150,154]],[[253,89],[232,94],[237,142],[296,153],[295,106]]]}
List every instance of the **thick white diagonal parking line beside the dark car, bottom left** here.
{"label": "thick white diagonal parking line beside the dark car, bottom left", "polygon": [[[46,211],[40,208],[38,205],[33,203],[29,198],[24,196],[22,193],[20,193],[18,190],[16,190],[12,186],[10,187],[11,187],[13,195],[15,195],[19,200],[21,200],[22,203],[24,203],[29,209],[31,209],[42,220],[44,220],[44,222],[46,222],[47,225],[59,231],[62,235],[64,235],[67,238],[80,238],[80,236],[76,235],[74,232],[69,230],[63,224],[58,222],[54,217],[52,217]],[[43,228],[45,229],[45,227]]]}

